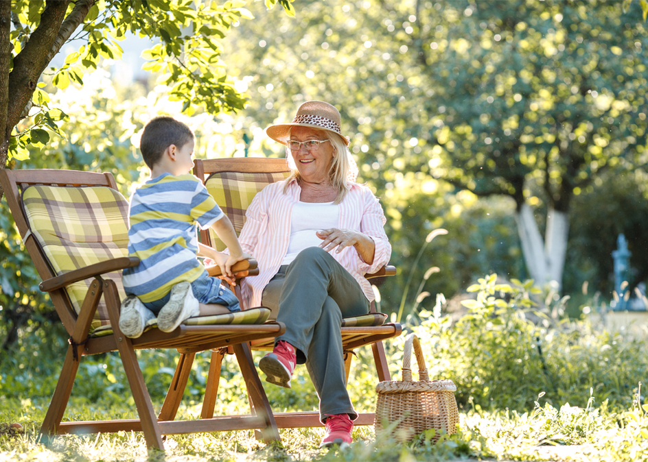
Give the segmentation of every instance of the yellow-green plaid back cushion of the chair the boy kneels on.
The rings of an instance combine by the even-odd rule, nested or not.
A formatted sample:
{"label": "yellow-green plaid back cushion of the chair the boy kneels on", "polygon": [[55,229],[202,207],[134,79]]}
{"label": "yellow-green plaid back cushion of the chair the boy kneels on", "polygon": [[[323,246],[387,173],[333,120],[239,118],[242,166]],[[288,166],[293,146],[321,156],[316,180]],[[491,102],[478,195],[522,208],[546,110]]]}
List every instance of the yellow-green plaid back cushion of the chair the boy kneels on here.
{"label": "yellow-green plaid back cushion of the chair the boy kneels on", "polygon": [[[104,186],[29,186],[22,195],[30,230],[57,275],[111,258],[128,256],[128,201]],[[105,275],[125,297],[122,272]],[[91,279],[65,290],[78,314]],[[108,324],[100,301],[91,331]]]}

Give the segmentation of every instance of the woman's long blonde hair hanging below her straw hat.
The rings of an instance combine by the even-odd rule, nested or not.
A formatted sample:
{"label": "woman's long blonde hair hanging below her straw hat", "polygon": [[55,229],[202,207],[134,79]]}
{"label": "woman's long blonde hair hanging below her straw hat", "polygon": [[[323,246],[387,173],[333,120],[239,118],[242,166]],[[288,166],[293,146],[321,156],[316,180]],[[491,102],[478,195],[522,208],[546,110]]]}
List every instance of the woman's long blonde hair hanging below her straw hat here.
{"label": "woman's long blonde hair hanging below her straw hat", "polygon": [[[290,127],[290,129],[292,129],[292,127]],[[319,130],[317,128],[313,128],[313,130],[323,132],[326,139],[330,141],[333,146],[333,161],[331,162],[331,168],[329,169],[329,178],[333,187],[338,191],[338,195],[333,203],[340,204],[347,194],[347,191],[351,189],[352,181],[349,177],[355,177],[352,170],[353,167],[356,167],[356,162],[351,160],[351,152],[338,134],[331,132],[330,130]],[[288,137],[290,137],[290,130],[288,130]],[[290,170],[292,170],[292,173],[286,180],[286,185],[283,186],[284,194],[286,194],[288,184],[290,184],[292,180],[299,180],[299,171],[297,170],[297,166],[294,164],[294,159],[292,158],[292,153],[288,145],[286,145],[286,158],[288,159],[288,166],[290,167]]]}

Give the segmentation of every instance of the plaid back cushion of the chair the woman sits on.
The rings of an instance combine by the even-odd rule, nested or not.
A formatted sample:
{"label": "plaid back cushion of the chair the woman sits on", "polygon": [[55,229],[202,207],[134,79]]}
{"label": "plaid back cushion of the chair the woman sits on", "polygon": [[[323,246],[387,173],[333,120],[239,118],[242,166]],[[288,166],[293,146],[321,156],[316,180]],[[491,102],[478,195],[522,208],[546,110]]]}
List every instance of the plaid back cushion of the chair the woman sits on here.
{"label": "plaid back cushion of the chair the woman sits on", "polygon": [[[205,186],[207,191],[216,199],[225,215],[230,219],[238,235],[245,224],[245,211],[252,202],[253,197],[268,184],[285,180],[290,171],[280,173],[241,173],[226,171],[212,173],[207,178]],[[217,250],[224,250],[225,245],[218,239],[213,230],[211,241]]]}

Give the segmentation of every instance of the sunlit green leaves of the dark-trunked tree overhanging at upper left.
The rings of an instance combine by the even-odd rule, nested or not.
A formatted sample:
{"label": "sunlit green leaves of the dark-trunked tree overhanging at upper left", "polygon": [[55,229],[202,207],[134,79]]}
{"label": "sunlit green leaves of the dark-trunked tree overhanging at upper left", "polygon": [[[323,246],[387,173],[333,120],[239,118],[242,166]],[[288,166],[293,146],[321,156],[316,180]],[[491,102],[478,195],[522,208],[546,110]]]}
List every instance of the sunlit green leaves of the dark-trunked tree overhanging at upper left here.
{"label": "sunlit green leaves of the dark-trunked tree overhanging at upper left", "polygon": [[[266,6],[270,9],[275,3],[276,0],[268,0]],[[294,16],[292,0],[279,0],[279,3],[288,16]],[[75,4],[70,3],[68,17]],[[78,42],[82,45],[67,55],[60,68],[51,68],[51,84],[60,89],[72,82],[84,84],[84,77],[97,69],[102,60],[122,58],[119,41],[130,33],[152,41],[152,47],[143,52],[143,58],[148,60],[143,69],[159,73],[159,83],[169,87],[171,99],[182,102],[183,112],[193,114],[205,110],[218,114],[240,110],[245,104],[244,97],[234,88],[220,56],[222,39],[231,27],[242,19],[253,19],[245,5],[244,0],[222,4],[192,0],[97,1],[68,42],[76,47]],[[44,12],[44,2],[12,1],[12,58],[23,51]],[[58,30],[49,32],[56,35]],[[45,62],[51,60],[45,58],[48,51],[42,50]],[[40,73],[40,69],[32,72]],[[63,136],[57,122],[65,121],[66,114],[50,106],[42,82],[38,86],[32,97],[36,110],[16,127],[11,138],[10,159],[24,160],[29,154],[28,147],[46,145],[48,130]]]}

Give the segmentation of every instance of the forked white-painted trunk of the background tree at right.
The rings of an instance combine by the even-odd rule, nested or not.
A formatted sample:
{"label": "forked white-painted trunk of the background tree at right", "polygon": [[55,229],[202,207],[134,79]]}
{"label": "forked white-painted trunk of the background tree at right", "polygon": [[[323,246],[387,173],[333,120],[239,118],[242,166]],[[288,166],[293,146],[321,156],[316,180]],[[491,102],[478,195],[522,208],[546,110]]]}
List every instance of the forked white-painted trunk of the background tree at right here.
{"label": "forked white-painted trunk of the background tree at right", "polygon": [[516,222],[524,263],[531,278],[539,286],[554,280],[560,290],[567,252],[569,215],[552,208],[548,210],[544,241],[528,204],[522,205],[520,212],[516,213]]}

